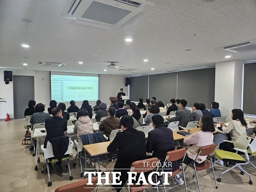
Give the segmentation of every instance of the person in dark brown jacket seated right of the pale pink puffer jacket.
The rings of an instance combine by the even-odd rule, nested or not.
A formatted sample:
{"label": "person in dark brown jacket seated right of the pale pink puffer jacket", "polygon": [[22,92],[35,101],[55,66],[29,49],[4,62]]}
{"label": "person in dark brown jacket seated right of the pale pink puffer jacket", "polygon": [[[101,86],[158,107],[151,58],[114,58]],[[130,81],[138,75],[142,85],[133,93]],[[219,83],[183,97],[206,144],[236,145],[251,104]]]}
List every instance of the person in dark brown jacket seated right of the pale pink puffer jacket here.
{"label": "person in dark brown jacket seated right of the pale pink puffer jacket", "polygon": [[108,109],[109,117],[104,119],[99,126],[100,131],[104,131],[104,134],[107,137],[110,136],[110,132],[112,130],[121,128],[120,119],[115,117],[115,113],[116,113],[116,108],[110,107]]}

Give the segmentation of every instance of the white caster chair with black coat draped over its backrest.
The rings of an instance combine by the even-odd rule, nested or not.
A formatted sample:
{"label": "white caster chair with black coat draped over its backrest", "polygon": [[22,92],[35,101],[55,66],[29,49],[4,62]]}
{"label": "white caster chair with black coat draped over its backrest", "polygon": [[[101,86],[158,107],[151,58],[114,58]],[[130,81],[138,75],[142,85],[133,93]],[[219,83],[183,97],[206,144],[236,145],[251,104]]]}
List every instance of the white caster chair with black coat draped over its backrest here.
{"label": "white caster chair with black coat draped over its backrest", "polygon": [[[66,151],[66,154],[69,154],[67,157],[62,158],[62,161],[67,161],[67,166],[68,166],[68,172],[69,172],[69,180],[73,180],[73,177],[71,176],[71,171],[70,171],[70,166],[69,166],[69,159],[70,157],[73,157],[73,146],[74,143],[71,141],[70,138],[69,140],[69,145],[68,145],[68,150]],[[50,141],[47,142],[46,148],[44,148],[44,145],[41,145],[42,152],[44,153],[44,162],[42,165],[42,171],[41,173],[44,173],[44,164],[47,164],[47,170],[48,170],[48,186],[52,186],[52,182],[50,182],[50,171],[49,171],[49,163],[54,163],[58,162],[58,159],[54,158],[53,150],[52,150],[52,143]],[[51,161],[50,161],[51,158]]]}

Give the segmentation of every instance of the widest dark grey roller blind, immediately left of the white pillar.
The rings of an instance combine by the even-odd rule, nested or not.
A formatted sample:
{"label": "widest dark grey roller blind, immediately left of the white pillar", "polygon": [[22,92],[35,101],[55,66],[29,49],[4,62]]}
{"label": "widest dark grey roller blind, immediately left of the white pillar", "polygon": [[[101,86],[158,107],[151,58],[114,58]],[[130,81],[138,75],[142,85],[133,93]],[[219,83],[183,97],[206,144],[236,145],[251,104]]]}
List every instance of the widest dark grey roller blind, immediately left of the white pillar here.
{"label": "widest dark grey roller blind, immediately left of the white pillar", "polygon": [[211,108],[215,92],[215,68],[178,72],[178,99],[185,99],[187,106],[195,102]]}

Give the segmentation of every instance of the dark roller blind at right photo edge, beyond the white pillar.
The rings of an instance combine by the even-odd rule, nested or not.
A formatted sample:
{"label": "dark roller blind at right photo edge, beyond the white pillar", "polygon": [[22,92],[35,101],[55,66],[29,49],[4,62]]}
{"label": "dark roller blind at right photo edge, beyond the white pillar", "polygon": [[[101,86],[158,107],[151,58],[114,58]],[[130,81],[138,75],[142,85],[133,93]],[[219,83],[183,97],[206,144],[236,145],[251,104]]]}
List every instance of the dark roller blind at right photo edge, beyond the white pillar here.
{"label": "dark roller blind at right photo edge, beyond the white pillar", "polygon": [[256,115],[256,63],[244,64],[244,114]]}

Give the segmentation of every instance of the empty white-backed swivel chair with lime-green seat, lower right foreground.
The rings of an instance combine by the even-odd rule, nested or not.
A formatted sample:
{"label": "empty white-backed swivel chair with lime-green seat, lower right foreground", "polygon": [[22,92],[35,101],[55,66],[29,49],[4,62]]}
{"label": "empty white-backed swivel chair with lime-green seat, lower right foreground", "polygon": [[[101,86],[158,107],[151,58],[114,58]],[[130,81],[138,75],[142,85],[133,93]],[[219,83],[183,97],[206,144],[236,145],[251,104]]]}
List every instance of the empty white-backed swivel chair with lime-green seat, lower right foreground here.
{"label": "empty white-backed swivel chair with lime-green seat, lower right foreground", "polygon": [[[214,164],[217,163],[218,161],[222,160],[222,161],[232,162],[235,165],[232,166],[231,168],[229,168],[228,170],[222,172],[220,174],[220,178],[218,178],[217,181],[221,182],[221,177],[224,173],[238,167],[241,170],[241,172],[240,172],[241,175],[244,175],[244,173],[248,174],[248,176],[250,177],[249,184],[252,185],[252,177],[241,166],[241,165],[246,165],[250,162],[248,152],[246,150],[251,141],[250,137],[248,137],[246,135],[240,135],[239,138],[236,140],[236,142],[227,141],[227,140],[224,140],[224,141],[233,143],[234,150],[236,150],[236,153],[229,152],[229,151],[223,151],[223,150],[215,150],[215,156],[218,158],[218,160],[216,162],[214,162]],[[244,155],[241,156],[240,154],[237,154],[238,151],[243,152]]]}

